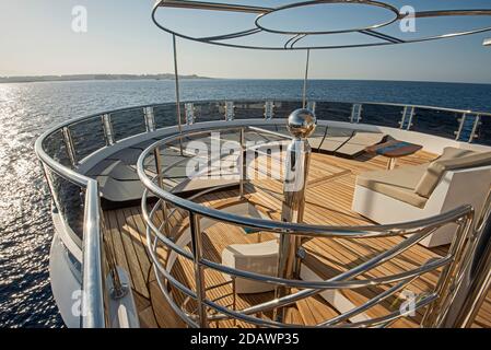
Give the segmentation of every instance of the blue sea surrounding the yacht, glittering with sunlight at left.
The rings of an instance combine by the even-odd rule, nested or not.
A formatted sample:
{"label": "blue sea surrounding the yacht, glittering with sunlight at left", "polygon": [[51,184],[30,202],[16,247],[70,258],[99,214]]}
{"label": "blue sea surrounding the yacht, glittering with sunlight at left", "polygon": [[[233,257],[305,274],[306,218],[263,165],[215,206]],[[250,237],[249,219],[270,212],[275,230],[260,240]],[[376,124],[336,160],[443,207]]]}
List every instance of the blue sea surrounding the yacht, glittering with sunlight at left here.
{"label": "blue sea surrounding the yacht, glittering with sunlight at left", "polygon": [[[183,100],[301,98],[299,80],[183,80]],[[49,287],[50,197],[33,151],[61,121],[174,101],[167,80],[0,84],[0,327],[60,327]],[[308,97],[491,112],[491,85],[313,80]]]}

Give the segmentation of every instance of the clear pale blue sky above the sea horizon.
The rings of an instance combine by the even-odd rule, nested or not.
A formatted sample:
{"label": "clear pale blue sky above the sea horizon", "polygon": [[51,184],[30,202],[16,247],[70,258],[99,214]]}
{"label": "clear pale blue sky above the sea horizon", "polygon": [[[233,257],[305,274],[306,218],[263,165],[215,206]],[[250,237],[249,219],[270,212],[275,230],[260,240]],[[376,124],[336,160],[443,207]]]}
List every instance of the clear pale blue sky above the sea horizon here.
{"label": "clear pale blue sky above the sea horizon", "polygon": [[[219,1],[219,0],[214,0]],[[241,1],[232,1],[241,2]],[[292,1],[243,0],[278,7]],[[393,0],[397,9],[491,9],[489,0]],[[0,0],[0,75],[166,73],[174,69],[172,37],[151,21],[153,0]],[[72,28],[74,7],[87,11],[86,33]],[[391,13],[366,5],[317,4],[284,10],[261,20],[268,28],[332,31],[373,25]],[[255,15],[160,10],[162,23],[194,35],[217,35],[254,26]],[[417,19],[416,33],[398,24],[379,30],[401,38],[491,26],[490,18]],[[291,36],[260,34],[255,43],[284,43]],[[315,50],[312,79],[418,80],[491,83],[491,32],[439,42],[390,47]],[[311,36],[305,44],[358,43],[362,34]],[[252,43],[245,38],[242,43]],[[223,48],[178,38],[179,73],[213,78],[300,79],[305,51]]]}

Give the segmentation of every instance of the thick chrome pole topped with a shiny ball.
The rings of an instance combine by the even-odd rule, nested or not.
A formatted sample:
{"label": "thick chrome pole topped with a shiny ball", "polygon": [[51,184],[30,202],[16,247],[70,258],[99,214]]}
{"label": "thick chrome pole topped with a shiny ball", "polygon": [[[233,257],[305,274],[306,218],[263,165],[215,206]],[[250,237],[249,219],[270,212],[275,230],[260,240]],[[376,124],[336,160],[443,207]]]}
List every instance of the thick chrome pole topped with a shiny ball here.
{"label": "thick chrome pole topped with a shiny ball", "polygon": [[[316,127],[315,115],[308,109],[296,109],[288,119],[288,129],[294,137],[287,150],[283,183],[283,205],[281,221],[303,221],[305,209],[305,190],[308,178],[312,149],[307,138]],[[293,279],[300,276],[300,259],[297,250],[301,246],[301,237],[293,234],[280,235],[278,258],[278,277]],[[287,287],[277,287],[276,298],[280,299],[290,292]],[[274,310],[274,319],[283,322],[285,308]]]}

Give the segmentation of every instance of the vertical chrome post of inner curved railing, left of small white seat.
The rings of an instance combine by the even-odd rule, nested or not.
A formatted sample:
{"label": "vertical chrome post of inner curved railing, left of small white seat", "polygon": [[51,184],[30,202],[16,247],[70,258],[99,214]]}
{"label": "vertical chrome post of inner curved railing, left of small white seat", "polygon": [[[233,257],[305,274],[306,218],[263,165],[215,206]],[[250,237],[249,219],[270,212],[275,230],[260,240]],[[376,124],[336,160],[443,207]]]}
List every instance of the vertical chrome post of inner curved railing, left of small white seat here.
{"label": "vertical chrome post of inner curved railing, left of small white seat", "polygon": [[189,211],[189,225],[191,231],[191,249],[195,267],[195,281],[196,281],[196,302],[198,304],[199,326],[201,328],[208,328],[208,314],[204,299],[207,298],[204,285],[204,268],[201,265],[202,258],[202,240],[199,217]]}

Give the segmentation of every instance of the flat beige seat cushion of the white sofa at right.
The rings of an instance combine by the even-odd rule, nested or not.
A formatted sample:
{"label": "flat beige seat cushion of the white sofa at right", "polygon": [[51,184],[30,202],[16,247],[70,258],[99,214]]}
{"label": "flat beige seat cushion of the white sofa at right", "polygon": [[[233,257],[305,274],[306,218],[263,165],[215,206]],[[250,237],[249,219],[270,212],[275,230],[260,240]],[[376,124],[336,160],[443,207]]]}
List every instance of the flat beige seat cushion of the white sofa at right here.
{"label": "flat beige seat cushion of the white sofa at right", "polygon": [[356,185],[411,206],[424,208],[428,198],[416,194],[414,188],[425,173],[426,166],[426,164],[423,164],[391,171],[366,172],[356,177]]}

